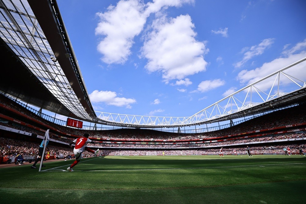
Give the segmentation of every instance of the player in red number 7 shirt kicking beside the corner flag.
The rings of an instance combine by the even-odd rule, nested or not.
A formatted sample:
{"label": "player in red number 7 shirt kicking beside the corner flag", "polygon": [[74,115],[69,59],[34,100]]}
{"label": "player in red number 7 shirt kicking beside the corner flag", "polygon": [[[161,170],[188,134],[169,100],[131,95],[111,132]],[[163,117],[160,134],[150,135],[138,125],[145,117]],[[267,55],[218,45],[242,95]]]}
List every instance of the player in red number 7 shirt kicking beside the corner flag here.
{"label": "player in red number 7 shirt kicking beside the corner flag", "polygon": [[73,153],[74,153],[74,155],[76,157],[76,161],[74,161],[72,163],[72,165],[70,165],[67,168],[68,171],[73,171],[72,167],[74,167],[75,165],[77,165],[77,163],[80,162],[80,160],[82,158],[82,152],[84,150],[89,151],[89,152],[94,153],[95,155],[97,155],[99,149],[94,151],[94,150],[91,150],[91,149],[89,149],[88,147],[85,146],[85,144],[87,144],[87,143],[92,143],[92,144],[95,143],[94,141],[91,141],[90,139],[88,139],[88,137],[89,137],[89,134],[88,133],[84,133],[83,137],[79,137],[79,138],[73,140],[73,142],[69,144],[70,147],[71,147],[71,145],[73,143],[76,144],[74,149],[73,149]]}

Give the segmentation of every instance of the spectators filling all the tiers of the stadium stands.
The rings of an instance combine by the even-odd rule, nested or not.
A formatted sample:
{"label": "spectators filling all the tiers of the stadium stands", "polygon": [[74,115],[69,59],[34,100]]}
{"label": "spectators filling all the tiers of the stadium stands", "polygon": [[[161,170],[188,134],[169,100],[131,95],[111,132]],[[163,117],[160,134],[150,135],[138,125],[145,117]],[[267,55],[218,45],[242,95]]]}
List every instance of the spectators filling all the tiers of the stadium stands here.
{"label": "spectators filling all the tiers of the stadium stands", "polygon": [[[19,113],[25,114],[27,117],[18,116],[21,120],[24,117],[25,123],[30,123],[31,125],[39,128],[30,128],[28,126],[21,125],[18,122],[6,121],[0,118],[0,125],[14,128],[17,130],[44,135],[42,124],[47,126],[54,127],[57,130],[65,134],[60,134],[50,131],[50,135],[56,141],[70,143],[76,137],[70,135],[83,135],[85,132],[90,134],[91,139],[97,138],[95,141],[98,142],[93,145],[88,145],[88,147],[100,148],[100,155],[202,155],[202,154],[218,154],[219,147],[223,146],[224,154],[233,154],[235,147],[237,154],[246,154],[246,149],[244,146],[245,143],[252,143],[252,154],[284,154],[283,148],[287,146],[285,141],[275,140],[284,140],[284,139],[298,139],[306,137],[304,132],[293,132],[287,134],[273,134],[273,132],[268,132],[265,136],[257,137],[241,137],[241,135],[231,136],[230,139],[218,138],[216,137],[225,137],[227,135],[233,134],[244,134],[245,132],[251,132],[256,130],[264,130],[271,127],[281,127],[284,125],[291,124],[300,124],[306,122],[306,108],[305,105],[295,106],[288,109],[279,110],[273,113],[269,113],[249,121],[245,121],[241,124],[237,124],[233,127],[213,131],[213,132],[204,132],[204,133],[193,133],[193,134],[182,134],[182,133],[170,133],[162,131],[154,131],[150,129],[114,129],[106,131],[87,131],[82,129],[74,129],[58,124],[54,124],[50,121],[47,121],[38,115],[32,113],[28,109],[22,107],[21,105],[13,102],[7,97],[4,97],[0,94],[0,102],[6,104],[7,106],[17,110]],[[8,110],[4,110],[7,112]],[[16,114],[16,113],[14,113]],[[12,115],[14,115],[12,113]],[[286,115],[286,117],[282,117]],[[30,119],[29,119],[30,118]],[[34,119],[34,120],[31,120]],[[42,124],[38,124],[35,121],[40,121]],[[47,128],[46,128],[47,129]],[[249,136],[251,136],[249,134]],[[240,138],[239,138],[240,137]],[[194,139],[206,139],[205,143],[196,143],[192,141]],[[211,141],[209,141],[211,139]],[[168,143],[162,143],[156,140],[168,141]],[[124,143],[121,143],[121,142]],[[203,141],[203,140],[202,140]],[[273,141],[273,143],[262,143],[263,141]],[[172,143],[172,144],[171,144]],[[271,144],[271,145],[270,145]],[[272,145],[273,144],[273,145]],[[0,157],[16,156],[18,154],[23,155],[37,155],[38,154],[38,144],[35,142],[18,140],[18,139],[9,139],[7,137],[0,138]],[[69,148],[68,145],[65,147],[65,144],[59,144],[53,142],[52,145],[48,145],[50,148],[50,155],[53,155],[57,158],[73,158],[73,149]],[[305,142],[300,143],[291,143],[290,147],[292,152],[297,152],[299,148],[305,149]],[[132,148],[132,149],[131,149]],[[171,148],[183,148],[181,150],[171,149]],[[85,152],[84,152],[85,153]],[[85,153],[84,157],[93,156],[90,153]]]}

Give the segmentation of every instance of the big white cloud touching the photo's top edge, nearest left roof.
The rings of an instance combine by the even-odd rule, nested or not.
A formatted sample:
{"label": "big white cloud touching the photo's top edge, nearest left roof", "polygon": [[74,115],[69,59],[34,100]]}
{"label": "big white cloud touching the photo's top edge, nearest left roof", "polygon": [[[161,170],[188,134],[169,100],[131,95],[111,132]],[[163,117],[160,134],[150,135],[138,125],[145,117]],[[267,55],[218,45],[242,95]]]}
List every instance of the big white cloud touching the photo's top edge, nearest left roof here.
{"label": "big white cloud touching the photo's top edge, nearest left roof", "polygon": [[182,6],[194,0],[155,0],[144,4],[140,0],[119,1],[110,5],[105,13],[96,13],[100,22],[95,35],[102,35],[97,49],[103,54],[102,61],[107,64],[124,64],[131,54],[134,37],[139,35],[151,13],[168,6]]}

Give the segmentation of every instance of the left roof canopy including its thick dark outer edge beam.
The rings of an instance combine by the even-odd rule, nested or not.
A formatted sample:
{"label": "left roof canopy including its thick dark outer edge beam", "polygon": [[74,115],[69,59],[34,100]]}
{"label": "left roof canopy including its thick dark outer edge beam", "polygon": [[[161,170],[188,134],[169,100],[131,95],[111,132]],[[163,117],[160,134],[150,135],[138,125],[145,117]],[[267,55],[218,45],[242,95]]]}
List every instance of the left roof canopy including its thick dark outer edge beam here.
{"label": "left roof canopy including its thick dark outer edge beam", "polygon": [[[96,118],[64,24],[51,1],[0,1],[1,90],[68,117]],[[35,13],[35,14],[34,14]]]}

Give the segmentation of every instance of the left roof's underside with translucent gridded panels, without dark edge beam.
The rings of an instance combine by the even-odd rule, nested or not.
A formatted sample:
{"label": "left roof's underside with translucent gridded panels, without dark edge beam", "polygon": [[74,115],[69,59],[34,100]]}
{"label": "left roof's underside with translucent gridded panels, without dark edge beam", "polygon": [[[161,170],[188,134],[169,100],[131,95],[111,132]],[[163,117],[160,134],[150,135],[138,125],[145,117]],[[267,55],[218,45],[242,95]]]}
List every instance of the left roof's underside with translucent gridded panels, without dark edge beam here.
{"label": "left roof's underside with translucent gridded panels, without dark edge beam", "polygon": [[[80,97],[73,91],[61,65],[55,59],[54,52],[28,1],[1,0],[0,21],[3,44],[1,50],[8,53],[1,56],[1,61],[6,61],[4,69],[7,73],[1,75],[1,91],[55,113],[91,120],[80,103]],[[15,64],[14,67],[12,64]],[[19,74],[21,72],[24,73],[22,76]],[[28,81],[32,83],[32,90],[29,89]],[[9,82],[17,84],[8,86]],[[31,91],[33,93],[30,93]]]}

